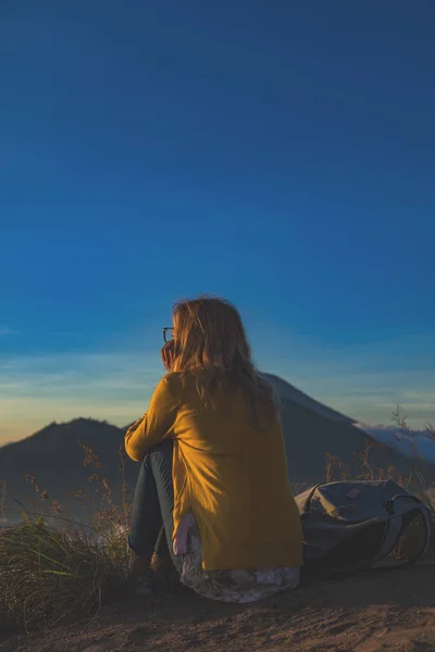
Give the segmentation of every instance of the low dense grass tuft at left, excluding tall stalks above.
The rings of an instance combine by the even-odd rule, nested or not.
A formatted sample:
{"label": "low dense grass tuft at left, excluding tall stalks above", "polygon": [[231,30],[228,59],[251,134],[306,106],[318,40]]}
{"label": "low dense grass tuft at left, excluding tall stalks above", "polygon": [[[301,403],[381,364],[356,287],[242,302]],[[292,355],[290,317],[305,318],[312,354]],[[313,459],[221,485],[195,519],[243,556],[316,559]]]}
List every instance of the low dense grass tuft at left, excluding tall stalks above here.
{"label": "low dense grass tuft at left, excluding tall stalks above", "polygon": [[122,593],[125,555],[125,543],[26,518],[0,535],[0,612],[26,631],[94,615]]}

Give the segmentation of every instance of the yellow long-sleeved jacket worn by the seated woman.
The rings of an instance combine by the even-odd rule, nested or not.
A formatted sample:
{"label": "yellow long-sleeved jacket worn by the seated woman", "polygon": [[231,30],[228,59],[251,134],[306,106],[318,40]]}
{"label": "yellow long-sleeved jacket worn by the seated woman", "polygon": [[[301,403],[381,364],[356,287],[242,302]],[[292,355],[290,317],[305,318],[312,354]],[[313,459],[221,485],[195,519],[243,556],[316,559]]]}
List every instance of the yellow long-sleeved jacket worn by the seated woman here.
{"label": "yellow long-sleeved jacket worn by the seated woman", "polygon": [[150,447],[174,439],[174,535],[191,512],[206,570],[300,566],[302,528],[279,419],[257,430],[240,392],[216,392],[214,402],[204,405],[194,374],[184,381],[167,374],[128,429],[127,454],[140,461]]}

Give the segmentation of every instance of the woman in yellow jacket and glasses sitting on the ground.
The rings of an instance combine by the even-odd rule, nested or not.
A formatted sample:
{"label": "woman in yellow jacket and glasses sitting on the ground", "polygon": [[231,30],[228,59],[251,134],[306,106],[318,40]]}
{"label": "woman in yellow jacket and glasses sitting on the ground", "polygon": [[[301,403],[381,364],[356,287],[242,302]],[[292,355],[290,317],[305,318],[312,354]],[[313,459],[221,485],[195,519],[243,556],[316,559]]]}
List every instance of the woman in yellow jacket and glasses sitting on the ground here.
{"label": "woman in yellow jacket and glasses sitting on the ground", "polygon": [[293,589],[299,512],[277,401],[240,316],[221,299],[184,301],[167,331],[169,373],[125,436],[127,454],[141,462],[129,536],[136,592],[149,591],[162,525],[181,581],[202,595],[252,602]]}

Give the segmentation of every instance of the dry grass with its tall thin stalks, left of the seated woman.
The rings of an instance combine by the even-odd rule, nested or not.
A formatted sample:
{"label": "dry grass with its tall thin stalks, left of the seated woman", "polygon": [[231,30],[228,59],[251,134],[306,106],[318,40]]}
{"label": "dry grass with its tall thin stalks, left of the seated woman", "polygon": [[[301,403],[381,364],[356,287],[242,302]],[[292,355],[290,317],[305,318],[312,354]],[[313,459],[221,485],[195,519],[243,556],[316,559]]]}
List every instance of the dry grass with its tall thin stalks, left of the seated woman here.
{"label": "dry grass with its tall thin stalks, left of the seated woman", "polygon": [[[45,629],[62,620],[94,615],[101,604],[125,591],[127,550],[125,531],[130,504],[120,449],[122,501],[101,475],[98,454],[80,442],[84,465],[91,466],[94,491],[71,493],[87,512],[77,523],[52,500],[36,478],[27,477],[35,493],[16,501],[20,525],[0,530],[0,618],[2,630]],[[3,514],[8,518],[10,513]]]}

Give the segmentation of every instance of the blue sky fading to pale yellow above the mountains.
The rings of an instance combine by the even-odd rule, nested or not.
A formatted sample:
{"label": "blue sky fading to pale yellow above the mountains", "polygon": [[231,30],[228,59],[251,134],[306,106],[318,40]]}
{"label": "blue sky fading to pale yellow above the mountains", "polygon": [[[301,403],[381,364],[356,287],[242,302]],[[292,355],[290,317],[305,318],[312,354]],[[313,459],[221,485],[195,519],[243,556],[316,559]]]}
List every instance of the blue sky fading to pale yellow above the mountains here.
{"label": "blue sky fading to pale yellow above the mountains", "polygon": [[435,421],[435,7],[2,3],[0,443],[124,424],[173,301],[357,418]]}

